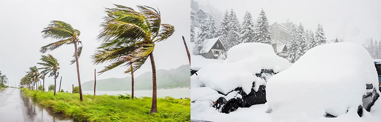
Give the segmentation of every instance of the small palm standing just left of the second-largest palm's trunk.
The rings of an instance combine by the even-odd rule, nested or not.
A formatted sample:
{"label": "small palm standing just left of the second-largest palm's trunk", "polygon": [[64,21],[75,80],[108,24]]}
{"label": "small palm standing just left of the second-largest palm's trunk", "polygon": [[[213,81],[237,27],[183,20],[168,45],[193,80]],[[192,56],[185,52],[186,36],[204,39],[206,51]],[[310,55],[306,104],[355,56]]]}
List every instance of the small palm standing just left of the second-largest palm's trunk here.
{"label": "small palm standing just left of the second-largest palm's trunk", "polygon": [[60,63],[58,63],[57,59],[54,58],[52,55],[48,54],[47,56],[42,55],[41,59],[42,62],[39,62],[37,64],[42,65],[43,67],[39,68],[42,69],[43,73],[50,73],[49,77],[54,76],[54,95],[56,95],[56,87],[57,87],[57,78],[59,75],[59,69],[60,69]]}

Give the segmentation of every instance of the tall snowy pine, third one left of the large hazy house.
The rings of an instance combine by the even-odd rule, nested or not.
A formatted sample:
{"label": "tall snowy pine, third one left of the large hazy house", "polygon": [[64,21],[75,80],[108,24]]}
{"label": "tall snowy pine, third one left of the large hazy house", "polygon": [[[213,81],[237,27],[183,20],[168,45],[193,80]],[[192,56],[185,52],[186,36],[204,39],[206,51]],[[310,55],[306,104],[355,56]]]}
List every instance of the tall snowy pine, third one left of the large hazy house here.
{"label": "tall snowy pine, third one left of the large hazy house", "polygon": [[228,33],[228,38],[226,39],[226,46],[225,48],[228,50],[231,47],[241,43],[239,41],[239,30],[240,30],[240,25],[237,16],[235,15],[235,12],[232,8],[229,14],[229,33]]}

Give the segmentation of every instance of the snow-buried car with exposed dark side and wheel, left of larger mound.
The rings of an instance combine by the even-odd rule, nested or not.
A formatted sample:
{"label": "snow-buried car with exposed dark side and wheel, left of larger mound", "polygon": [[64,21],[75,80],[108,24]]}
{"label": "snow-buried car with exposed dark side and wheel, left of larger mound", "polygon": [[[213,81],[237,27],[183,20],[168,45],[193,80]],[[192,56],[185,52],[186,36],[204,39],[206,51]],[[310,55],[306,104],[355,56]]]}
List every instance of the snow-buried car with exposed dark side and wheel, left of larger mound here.
{"label": "snow-buried car with exposed dark side and wheel, left of larger mound", "polygon": [[191,76],[191,86],[217,91],[221,97],[213,99],[212,106],[230,113],[238,107],[265,103],[266,81],[289,66],[269,44],[242,43],[230,48],[223,63],[211,63]]}

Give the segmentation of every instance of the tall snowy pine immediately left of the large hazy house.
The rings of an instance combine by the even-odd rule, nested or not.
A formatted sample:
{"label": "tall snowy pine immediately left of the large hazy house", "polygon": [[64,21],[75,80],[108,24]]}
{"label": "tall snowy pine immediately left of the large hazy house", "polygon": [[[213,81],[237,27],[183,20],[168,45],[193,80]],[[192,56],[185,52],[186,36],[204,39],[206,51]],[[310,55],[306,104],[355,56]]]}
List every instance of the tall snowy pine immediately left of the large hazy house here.
{"label": "tall snowy pine immediately left of the large hazy house", "polygon": [[255,25],[255,42],[271,44],[271,29],[263,8]]}

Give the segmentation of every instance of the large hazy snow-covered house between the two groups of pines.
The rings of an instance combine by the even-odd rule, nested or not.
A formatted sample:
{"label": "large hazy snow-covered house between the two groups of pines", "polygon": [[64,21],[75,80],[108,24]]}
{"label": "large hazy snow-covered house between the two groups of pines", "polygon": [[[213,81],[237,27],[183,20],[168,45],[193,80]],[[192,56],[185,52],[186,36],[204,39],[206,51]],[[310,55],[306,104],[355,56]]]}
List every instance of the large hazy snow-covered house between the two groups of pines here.
{"label": "large hazy snow-covered house between the two groups of pines", "polygon": [[270,26],[271,28],[271,39],[275,40],[276,43],[278,44],[287,44],[289,39],[290,39],[290,35],[291,35],[291,27],[287,27],[291,24],[291,27],[292,27],[292,22],[287,22],[287,23],[278,23],[278,22],[274,22],[274,24],[272,24]]}

